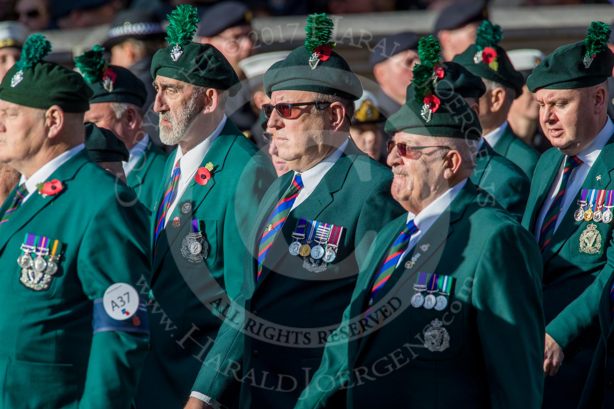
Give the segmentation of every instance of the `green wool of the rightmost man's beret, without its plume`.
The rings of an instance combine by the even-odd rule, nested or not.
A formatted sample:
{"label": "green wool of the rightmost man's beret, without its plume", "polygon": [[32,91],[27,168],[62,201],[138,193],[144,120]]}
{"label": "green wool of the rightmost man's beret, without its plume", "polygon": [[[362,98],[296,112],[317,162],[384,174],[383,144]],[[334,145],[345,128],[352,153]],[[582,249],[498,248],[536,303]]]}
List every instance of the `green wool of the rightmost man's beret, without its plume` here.
{"label": "green wool of the rightmost man's beret, without its plume", "polygon": [[584,40],[557,48],[546,56],[527,78],[529,91],[534,93],[539,88],[569,90],[605,82],[612,75],[614,53],[606,47],[597,53],[588,68],[585,68],[582,61],[585,54]]}

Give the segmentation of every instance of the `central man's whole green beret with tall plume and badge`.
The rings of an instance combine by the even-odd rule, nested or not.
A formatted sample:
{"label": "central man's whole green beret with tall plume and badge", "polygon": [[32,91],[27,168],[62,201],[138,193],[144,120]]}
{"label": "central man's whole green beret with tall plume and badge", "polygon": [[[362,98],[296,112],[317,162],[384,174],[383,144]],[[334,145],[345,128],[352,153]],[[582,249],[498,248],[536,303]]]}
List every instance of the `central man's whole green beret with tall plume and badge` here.
{"label": "central man's whole green beret with tall plume and badge", "polygon": [[265,92],[313,91],[356,101],[362,96],[362,84],[342,56],[329,42],[333,21],[326,14],[310,15],[305,27],[305,45],[295,48],[285,59],[265,72]]}

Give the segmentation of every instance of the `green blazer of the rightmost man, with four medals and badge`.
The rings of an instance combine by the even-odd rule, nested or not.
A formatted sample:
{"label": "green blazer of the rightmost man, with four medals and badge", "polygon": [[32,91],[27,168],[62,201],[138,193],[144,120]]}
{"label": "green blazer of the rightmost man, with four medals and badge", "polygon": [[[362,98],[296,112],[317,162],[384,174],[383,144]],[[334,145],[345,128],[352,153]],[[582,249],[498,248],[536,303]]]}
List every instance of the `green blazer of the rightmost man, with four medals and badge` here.
{"label": "green blazer of the rightmost man, with four medals and badge", "polygon": [[[523,226],[531,234],[535,231],[537,216],[563,158],[558,149],[551,148],[543,153],[535,168],[523,217]],[[614,189],[613,170],[614,138],[610,138],[589,170],[581,189]],[[546,378],[544,402],[551,405],[569,405],[570,401],[575,405],[580,398],[581,385],[577,380],[586,378],[593,359],[599,337],[597,301],[612,273],[608,259],[614,260],[611,243],[614,225],[575,221],[573,212],[577,208],[573,201],[562,215],[561,224],[542,254],[546,332],[565,351],[566,361],[555,377]],[[580,237],[590,224],[597,225],[602,239],[601,251],[580,253]],[[565,394],[561,391],[565,391]]]}

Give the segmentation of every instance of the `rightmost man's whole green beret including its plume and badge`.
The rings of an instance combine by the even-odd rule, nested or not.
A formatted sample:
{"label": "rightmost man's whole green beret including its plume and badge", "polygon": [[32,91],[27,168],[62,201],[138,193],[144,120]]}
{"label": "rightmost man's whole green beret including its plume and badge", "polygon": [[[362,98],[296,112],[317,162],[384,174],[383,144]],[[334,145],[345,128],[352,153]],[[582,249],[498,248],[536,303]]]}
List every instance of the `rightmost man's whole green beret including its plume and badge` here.
{"label": "rightmost man's whole green beret including its plume and badge", "polygon": [[609,37],[610,26],[593,21],[585,40],[563,45],[542,59],[527,78],[529,91],[569,90],[605,82],[614,67],[614,54],[607,47]]}

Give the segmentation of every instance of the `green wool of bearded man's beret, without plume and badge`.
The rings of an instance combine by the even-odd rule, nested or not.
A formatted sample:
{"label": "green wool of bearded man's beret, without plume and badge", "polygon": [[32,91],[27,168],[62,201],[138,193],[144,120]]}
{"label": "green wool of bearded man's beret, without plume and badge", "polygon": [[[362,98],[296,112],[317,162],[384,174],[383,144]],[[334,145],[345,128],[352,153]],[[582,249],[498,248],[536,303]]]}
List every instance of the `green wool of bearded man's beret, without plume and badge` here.
{"label": "green wool of bearded man's beret, without plume and badge", "polygon": [[[173,61],[174,47],[181,47],[183,54]],[[192,85],[228,91],[235,96],[241,89],[241,82],[235,70],[222,53],[211,44],[188,42],[183,46],[171,44],[153,55],[152,77],[156,75],[173,78]]]}

